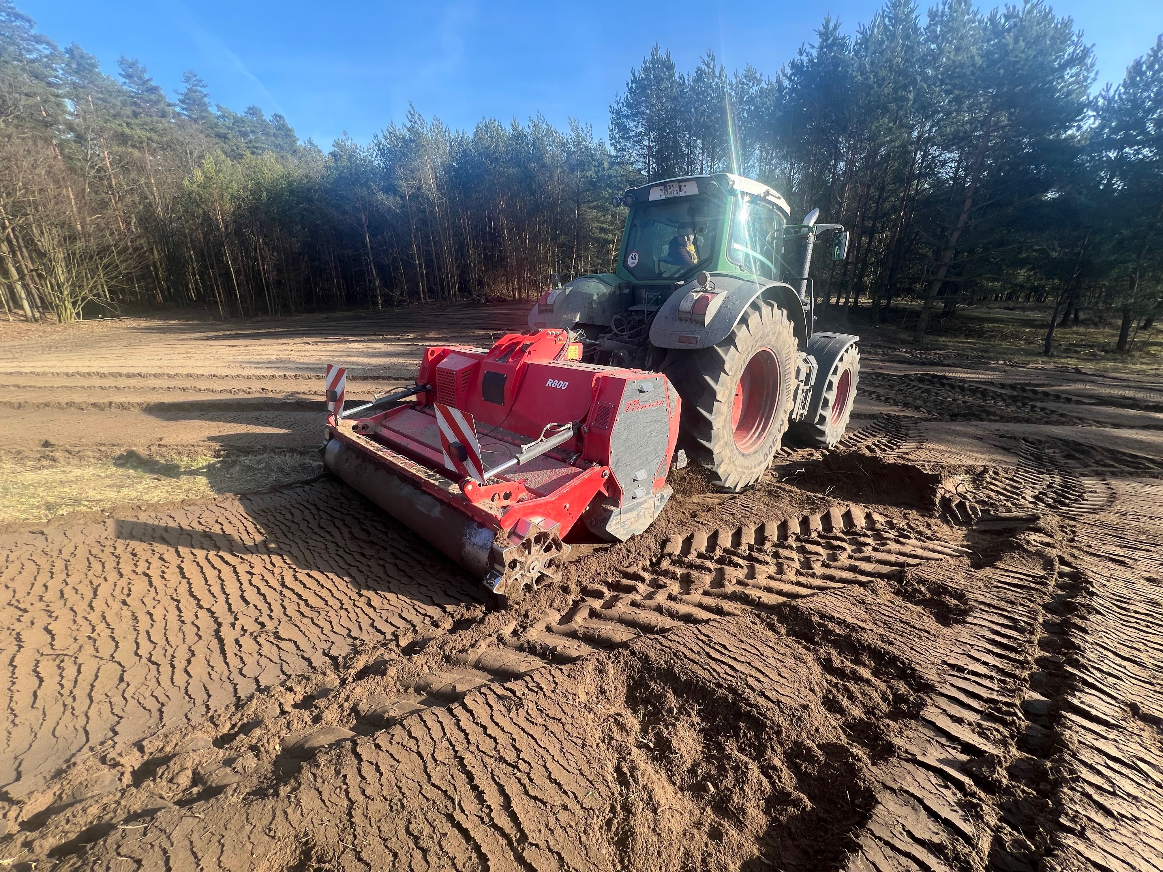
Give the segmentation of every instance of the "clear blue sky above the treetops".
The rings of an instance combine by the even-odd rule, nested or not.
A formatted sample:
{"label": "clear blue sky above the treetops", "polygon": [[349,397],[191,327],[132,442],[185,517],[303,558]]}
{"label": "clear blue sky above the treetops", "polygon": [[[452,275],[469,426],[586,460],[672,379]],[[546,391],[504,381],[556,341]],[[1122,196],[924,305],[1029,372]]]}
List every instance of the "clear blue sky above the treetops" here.
{"label": "clear blue sky above the treetops", "polygon": [[[825,13],[851,33],[875,0],[818,2],[483,2],[481,0],[16,0],[57,43],[79,43],[110,72],[136,57],[169,93],[197,70],[211,99],[281,112],[327,146],[344,130],[368,141],[408,102],[452,127],[541,112],[605,137],[608,107],[658,42],[679,69],[713,49],[728,71],[775,73]],[[1099,79],[1163,33],[1160,0],[1059,0],[1094,44]],[[991,7],[986,7],[991,8]]]}

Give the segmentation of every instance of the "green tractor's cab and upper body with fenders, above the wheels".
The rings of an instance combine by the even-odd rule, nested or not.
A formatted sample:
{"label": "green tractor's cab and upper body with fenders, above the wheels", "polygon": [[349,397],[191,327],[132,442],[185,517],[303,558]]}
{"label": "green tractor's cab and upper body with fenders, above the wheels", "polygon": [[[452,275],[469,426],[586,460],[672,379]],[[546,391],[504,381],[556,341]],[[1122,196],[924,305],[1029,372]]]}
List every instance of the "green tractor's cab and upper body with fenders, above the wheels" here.
{"label": "green tractor's cab and upper body with fenders, above the wheels", "polygon": [[651,367],[663,349],[682,348],[672,343],[715,344],[737,321],[742,308],[727,306],[720,320],[729,316],[730,323],[701,331],[693,342],[691,330],[668,327],[673,317],[665,317],[664,309],[678,305],[668,301],[700,288],[698,293],[719,294],[714,305],[705,300],[708,309],[722,308],[728,298],[745,307],[763,293],[787,310],[800,345],[807,343],[814,320],[807,278],[812,244],[819,233],[840,231],[833,259],[842,260],[848,234],[840,224],[815,224],[818,212],[802,224],[790,224],[779,192],[726,172],[629,188],[615,205],[629,213],[614,271],[582,276],[543,293],[529,313],[531,329],[576,330],[587,362]]}

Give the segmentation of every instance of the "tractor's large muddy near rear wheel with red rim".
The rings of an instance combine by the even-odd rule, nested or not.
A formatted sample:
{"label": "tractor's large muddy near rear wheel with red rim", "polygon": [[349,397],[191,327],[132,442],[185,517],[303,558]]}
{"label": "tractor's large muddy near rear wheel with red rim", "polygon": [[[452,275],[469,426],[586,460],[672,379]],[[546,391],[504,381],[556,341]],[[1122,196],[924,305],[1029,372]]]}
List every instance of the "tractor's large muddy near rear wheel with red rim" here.
{"label": "tractor's large muddy near rear wheel with red rim", "polygon": [[758,300],[730,336],[698,351],[671,350],[662,370],[683,398],[685,442],[737,493],[771,465],[787,429],[795,334],[787,313]]}

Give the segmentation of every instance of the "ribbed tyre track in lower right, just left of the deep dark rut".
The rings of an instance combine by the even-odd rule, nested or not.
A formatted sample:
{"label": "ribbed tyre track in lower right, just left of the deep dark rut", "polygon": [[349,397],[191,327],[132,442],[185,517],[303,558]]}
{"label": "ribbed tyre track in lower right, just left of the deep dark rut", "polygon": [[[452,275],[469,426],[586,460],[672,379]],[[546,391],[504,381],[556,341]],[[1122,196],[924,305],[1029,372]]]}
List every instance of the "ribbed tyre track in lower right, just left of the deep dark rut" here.
{"label": "ribbed tyre track in lower right, just left of the deep dark rut", "polygon": [[900,739],[904,753],[878,771],[878,802],[849,870],[1025,867],[1005,814],[1021,800],[998,770],[1015,752],[1013,722],[1047,579],[994,566],[978,580],[942,678]]}

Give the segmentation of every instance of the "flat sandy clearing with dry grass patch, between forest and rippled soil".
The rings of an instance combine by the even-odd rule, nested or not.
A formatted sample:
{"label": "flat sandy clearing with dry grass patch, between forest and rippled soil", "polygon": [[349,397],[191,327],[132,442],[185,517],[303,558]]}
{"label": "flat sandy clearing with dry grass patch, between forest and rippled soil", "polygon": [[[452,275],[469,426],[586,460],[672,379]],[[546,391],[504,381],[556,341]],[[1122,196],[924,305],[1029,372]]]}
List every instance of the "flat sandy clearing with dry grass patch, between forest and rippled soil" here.
{"label": "flat sandy clearing with dry grass patch, between forest and rippled soil", "polygon": [[252,493],[322,473],[320,373],[352,393],[412,378],[431,342],[488,344],[523,308],[454,308],[244,328],[137,319],[6,326],[0,527]]}

